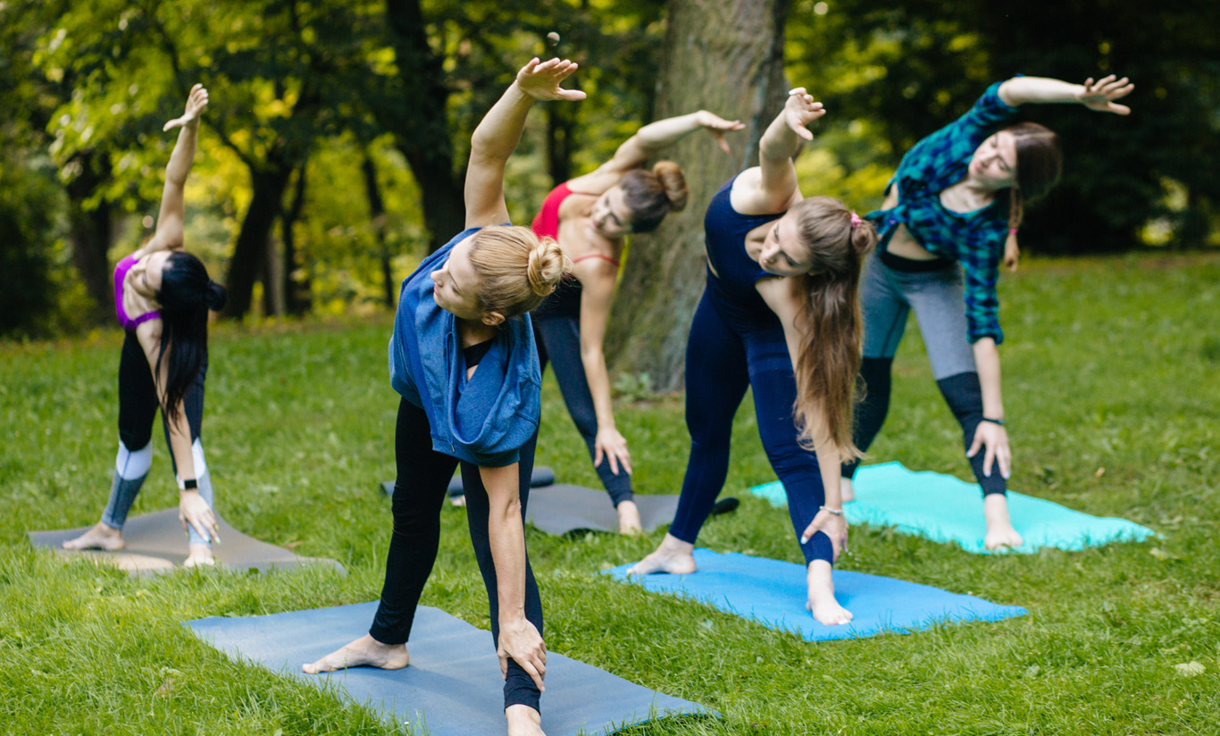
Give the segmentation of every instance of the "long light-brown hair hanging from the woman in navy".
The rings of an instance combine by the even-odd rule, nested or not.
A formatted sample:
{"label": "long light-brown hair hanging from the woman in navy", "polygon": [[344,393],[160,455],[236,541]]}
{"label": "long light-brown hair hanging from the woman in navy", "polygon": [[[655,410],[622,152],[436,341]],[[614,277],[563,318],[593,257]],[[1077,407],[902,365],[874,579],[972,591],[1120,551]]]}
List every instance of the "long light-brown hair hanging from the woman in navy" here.
{"label": "long light-brown hair hanging from the woman in navy", "polygon": [[854,393],[860,372],[864,320],[860,271],[877,243],[872,225],[828,197],[797,204],[800,240],[813,255],[800,276],[797,326],[797,403],[793,414],[802,447],[830,442],[843,461],[861,455],[852,441]]}

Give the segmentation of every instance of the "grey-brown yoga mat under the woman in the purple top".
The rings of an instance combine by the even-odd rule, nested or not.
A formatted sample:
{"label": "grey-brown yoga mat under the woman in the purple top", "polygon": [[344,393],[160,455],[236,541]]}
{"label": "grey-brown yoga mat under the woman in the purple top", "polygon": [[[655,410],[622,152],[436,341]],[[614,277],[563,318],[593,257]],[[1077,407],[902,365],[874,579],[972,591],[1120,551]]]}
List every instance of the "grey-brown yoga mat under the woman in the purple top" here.
{"label": "grey-brown yoga mat under the woman in the purple top", "polygon": [[[226,570],[260,570],[266,572],[272,568],[295,568],[304,564],[328,565],[344,572],[343,565],[332,559],[299,557],[284,549],[260,542],[243,535],[223,519],[220,520],[221,541],[212,546],[216,561]],[[63,542],[79,537],[88,531],[81,529],[62,529],[55,531],[27,532],[34,547],[45,547],[59,554],[70,557],[89,557],[109,563],[132,575],[168,572],[182,566],[187,559],[187,535],[178,521],[178,509],[165,509],[151,514],[132,516],[123,525],[123,539],[127,546],[118,552],[101,549],[63,549]]]}

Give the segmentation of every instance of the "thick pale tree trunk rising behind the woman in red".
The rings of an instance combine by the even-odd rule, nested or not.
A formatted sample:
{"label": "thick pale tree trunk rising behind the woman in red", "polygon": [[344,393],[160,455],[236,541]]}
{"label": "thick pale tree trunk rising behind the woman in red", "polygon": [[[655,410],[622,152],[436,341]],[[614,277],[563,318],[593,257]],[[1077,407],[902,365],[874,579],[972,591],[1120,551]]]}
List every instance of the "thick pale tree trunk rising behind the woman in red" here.
{"label": "thick pale tree trunk rising behind the woman in red", "polygon": [[758,165],[759,139],[783,107],[783,23],[789,0],[670,0],[656,117],[705,109],[739,118],[723,155],[708,135],[665,153],[682,164],[689,205],[651,234],[634,236],[615,299],[606,355],[619,371],[648,373],[677,391],[694,308],[704,288],[703,216],[737,172]]}

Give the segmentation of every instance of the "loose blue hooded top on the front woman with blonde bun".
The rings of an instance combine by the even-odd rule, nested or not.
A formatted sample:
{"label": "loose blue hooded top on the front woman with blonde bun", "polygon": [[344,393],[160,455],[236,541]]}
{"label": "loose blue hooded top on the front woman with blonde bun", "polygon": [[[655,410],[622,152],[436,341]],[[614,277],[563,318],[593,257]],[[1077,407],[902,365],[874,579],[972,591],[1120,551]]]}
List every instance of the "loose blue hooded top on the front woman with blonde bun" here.
{"label": "loose blue hooded top on the front woman with blonde bun", "polygon": [[503,467],[520,459],[542,414],[542,369],[529,315],[500,326],[467,381],[458,320],[437,305],[432,292],[432,273],[445,265],[454,245],[479,229],[458,233],[403,281],[389,338],[389,382],[427,414],[432,449],[482,467]]}

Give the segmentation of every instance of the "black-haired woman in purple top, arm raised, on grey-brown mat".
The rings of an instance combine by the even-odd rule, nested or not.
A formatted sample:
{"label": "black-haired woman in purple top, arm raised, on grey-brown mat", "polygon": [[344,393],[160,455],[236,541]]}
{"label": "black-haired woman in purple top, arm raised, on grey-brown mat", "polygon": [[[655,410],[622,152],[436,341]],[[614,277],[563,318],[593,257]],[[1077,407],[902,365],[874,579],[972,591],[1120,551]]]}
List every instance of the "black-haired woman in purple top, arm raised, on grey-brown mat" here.
{"label": "black-haired woman in purple top, arm raised, on grey-brown mat", "polygon": [[152,463],[157,408],[178,480],[178,518],[188,535],[187,566],[212,564],[216,514],[199,439],[207,373],[207,310],[224,305],[224,289],[183,250],[183,189],[195,157],[199,115],[207,90],[195,84],[166,167],[156,233],[115,267],[115,315],[127,332],[118,359],[118,456],[101,521],[63,543],[67,549],[122,549],[127,511]]}

